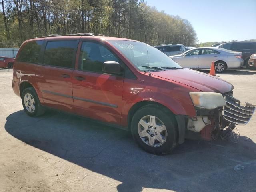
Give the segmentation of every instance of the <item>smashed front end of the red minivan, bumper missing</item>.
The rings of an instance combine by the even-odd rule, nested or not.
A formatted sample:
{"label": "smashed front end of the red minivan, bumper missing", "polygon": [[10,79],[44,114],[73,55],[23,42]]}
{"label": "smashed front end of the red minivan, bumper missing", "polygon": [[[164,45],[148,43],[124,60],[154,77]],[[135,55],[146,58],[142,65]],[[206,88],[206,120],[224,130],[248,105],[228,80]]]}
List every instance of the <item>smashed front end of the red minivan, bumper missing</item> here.
{"label": "smashed front end of the red minivan, bumper missing", "polygon": [[[201,105],[197,98],[195,99],[193,96],[191,98],[196,108],[196,118],[188,118],[186,138],[227,139],[235,126],[247,124],[255,111],[255,106],[252,104],[246,103],[245,106],[242,106],[240,101],[233,97],[232,91],[222,94],[222,98],[220,98],[220,94],[218,98],[215,96],[213,101],[211,101],[212,98],[204,99],[206,101],[201,102]],[[217,107],[207,105],[206,102],[215,102]]]}

